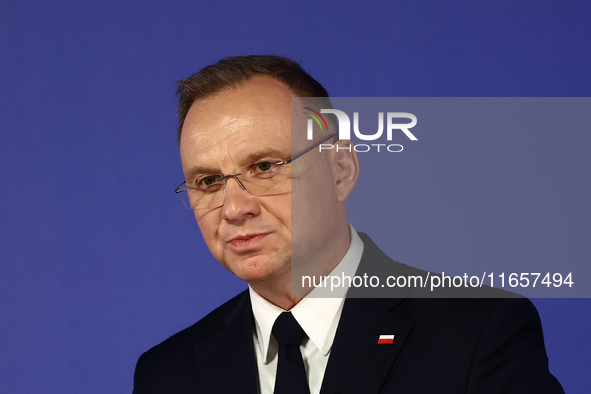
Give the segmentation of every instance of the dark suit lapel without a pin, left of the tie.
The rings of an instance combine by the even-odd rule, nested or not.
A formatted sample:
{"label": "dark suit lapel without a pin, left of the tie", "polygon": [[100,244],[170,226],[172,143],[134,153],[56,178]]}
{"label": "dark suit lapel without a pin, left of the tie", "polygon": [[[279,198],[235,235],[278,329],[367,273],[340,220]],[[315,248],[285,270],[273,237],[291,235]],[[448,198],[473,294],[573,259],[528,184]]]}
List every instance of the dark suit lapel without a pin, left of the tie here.
{"label": "dark suit lapel without a pin, left of the tie", "polygon": [[257,393],[253,324],[246,293],[227,315],[225,329],[195,346],[199,392]]}

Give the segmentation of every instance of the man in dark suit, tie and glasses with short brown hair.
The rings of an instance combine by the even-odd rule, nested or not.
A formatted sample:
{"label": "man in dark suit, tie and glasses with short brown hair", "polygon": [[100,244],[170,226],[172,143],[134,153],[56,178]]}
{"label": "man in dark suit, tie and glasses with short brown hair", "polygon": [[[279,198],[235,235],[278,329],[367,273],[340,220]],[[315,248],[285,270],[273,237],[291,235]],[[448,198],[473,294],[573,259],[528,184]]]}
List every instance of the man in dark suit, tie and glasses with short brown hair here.
{"label": "man in dark suit, tie and glasses with short brown hair", "polygon": [[292,293],[304,272],[426,274],[348,224],[359,173],[351,142],[319,152],[330,132],[292,135],[292,98],[328,97],[298,64],[226,58],[181,81],[179,94],[177,191],[213,256],[249,288],[144,353],[134,393],[563,392],[526,299]]}

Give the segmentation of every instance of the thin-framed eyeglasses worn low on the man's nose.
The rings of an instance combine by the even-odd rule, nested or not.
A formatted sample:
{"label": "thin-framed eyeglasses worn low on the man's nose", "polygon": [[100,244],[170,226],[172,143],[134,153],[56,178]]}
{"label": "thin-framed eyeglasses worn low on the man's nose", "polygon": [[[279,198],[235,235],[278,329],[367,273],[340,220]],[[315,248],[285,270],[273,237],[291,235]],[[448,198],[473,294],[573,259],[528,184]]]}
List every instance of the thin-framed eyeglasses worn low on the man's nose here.
{"label": "thin-framed eyeglasses worn low on the man's nose", "polygon": [[180,193],[185,206],[193,210],[211,210],[221,207],[226,199],[226,182],[230,178],[235,179],[242,190],[248,191],[253,196],[288,193],[291,191],[290,164],[335,136],[338,140],[338,133],[329,135],[288,160],[265,159],[241,166],[235,174],[201,175],[190,184],[187,181],[181,183],[175,189],[175,193]]}

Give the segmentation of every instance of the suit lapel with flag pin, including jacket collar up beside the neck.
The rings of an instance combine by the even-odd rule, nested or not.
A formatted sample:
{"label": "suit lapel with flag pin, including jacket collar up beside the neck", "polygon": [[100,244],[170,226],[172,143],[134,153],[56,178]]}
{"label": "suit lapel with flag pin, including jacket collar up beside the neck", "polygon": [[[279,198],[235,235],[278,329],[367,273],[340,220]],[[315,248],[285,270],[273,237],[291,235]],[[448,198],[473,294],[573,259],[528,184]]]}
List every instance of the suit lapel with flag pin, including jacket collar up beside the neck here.
{"label": "suit lapel with flag pin, including jacket collar up beside the neck", "polygon": [[[386,272],[404,271],[402,264],[393,262],[367,235],[359,233],[359,236],[364,250],[357,275],[376,275],[384,280]],[[397,315],[394,309],[409,295],[406,288],[349,289],[321,394],[380,391],[414,324]],[[380,335],[394,335],[392,344],[379,344]]]}

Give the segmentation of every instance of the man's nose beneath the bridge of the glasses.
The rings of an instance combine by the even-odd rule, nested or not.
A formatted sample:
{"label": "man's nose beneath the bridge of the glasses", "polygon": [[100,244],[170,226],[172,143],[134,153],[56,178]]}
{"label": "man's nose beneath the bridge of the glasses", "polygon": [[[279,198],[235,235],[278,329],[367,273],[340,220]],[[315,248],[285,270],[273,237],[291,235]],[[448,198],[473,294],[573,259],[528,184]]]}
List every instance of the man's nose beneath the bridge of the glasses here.
{"label": "man's nose beneath the bridge of the glasses", "polygon": [[242,222],[248,217],[258,216],[261,206],[255,196],[250,194],[237,176],[226,179],[222,218],[229,222]]}

